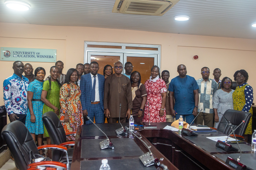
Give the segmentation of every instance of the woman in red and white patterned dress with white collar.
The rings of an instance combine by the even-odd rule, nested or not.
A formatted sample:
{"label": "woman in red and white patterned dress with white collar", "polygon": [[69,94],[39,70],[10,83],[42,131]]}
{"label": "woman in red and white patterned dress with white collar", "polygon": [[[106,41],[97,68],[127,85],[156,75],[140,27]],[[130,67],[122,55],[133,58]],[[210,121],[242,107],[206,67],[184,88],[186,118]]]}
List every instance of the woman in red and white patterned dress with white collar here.
{"label": "woman in red and white patterned dress with white collar", "polygon": [[145,82],[147,102],[145,105],[143,122],[166,122],[165,100],[167,89],[165,81],[161,79],[158,66],[151,68],[151,76]]}

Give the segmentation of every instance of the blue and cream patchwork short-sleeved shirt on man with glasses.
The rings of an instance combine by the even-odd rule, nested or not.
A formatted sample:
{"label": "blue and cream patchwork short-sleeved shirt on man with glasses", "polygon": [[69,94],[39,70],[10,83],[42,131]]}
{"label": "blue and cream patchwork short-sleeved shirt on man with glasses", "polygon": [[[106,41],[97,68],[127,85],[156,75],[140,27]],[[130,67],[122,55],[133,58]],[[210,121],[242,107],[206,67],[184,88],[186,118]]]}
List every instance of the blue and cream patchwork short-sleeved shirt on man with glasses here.
{"label": "blue and cream patchwork short-sleeved shirt on man with glasses", "polygon": [[213,94],[218,88],[218,85],[213,79],[204,80],[203,78],[197,80],[198,84],[198,112],[202,110],[203,113],[214,113],[213,111]]}

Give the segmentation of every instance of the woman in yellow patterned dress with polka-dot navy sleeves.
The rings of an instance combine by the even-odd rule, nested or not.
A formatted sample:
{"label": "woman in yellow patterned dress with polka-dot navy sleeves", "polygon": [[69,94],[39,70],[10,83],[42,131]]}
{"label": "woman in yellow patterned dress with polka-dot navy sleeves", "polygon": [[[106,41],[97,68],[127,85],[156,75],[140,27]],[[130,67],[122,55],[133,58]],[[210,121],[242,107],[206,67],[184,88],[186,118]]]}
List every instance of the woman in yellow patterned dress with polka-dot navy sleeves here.
{"label": "woman in yellow patterned dress with polka-dot navy sleeves", "polygon": [[[249,76],[245,70],[237,70],[234,74],[234,80],[238,83],[233,92],[234,110],[244,111],[253,114],[251,105],[253,104],[253,88],[247,84]],[[245,131],[245,141],[248,141],[248,134],[252,134],[252,118]]]}

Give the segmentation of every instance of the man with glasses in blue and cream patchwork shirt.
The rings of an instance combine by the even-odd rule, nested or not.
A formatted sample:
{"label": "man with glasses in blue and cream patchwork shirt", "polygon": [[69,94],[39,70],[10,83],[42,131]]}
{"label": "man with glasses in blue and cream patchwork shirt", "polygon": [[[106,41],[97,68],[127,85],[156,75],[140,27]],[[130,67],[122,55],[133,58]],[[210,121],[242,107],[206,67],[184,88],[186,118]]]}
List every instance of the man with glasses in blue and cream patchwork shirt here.
{"label": "man with glasses in blue and cream patchwork shirt", "polygon": [[204,125],[213,127],[213,94],[218,89],[218,84],[212,79],[209,79],[210,69],[208,67],[203,67],[201,69],[201,75],[202,78],[197,80],[199,87],[197,111],[199,115],[195,119],[195,124],[202,125],[204,122]]}

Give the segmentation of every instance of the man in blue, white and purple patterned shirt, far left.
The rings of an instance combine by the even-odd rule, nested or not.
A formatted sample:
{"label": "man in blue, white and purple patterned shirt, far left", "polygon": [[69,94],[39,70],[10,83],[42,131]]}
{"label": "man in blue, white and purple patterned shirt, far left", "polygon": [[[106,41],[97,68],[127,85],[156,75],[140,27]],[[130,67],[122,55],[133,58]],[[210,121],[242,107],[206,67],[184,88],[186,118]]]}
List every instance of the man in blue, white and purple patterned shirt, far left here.
{"label": "man in blue, white and purple patterned shirt, far left", "polygon": [[27,87],[29,79],[24,77],[24,64],[13,63],[14,74],[3,82],[3,100],[10,121],[19,120],[25,124],[27,116]]}

